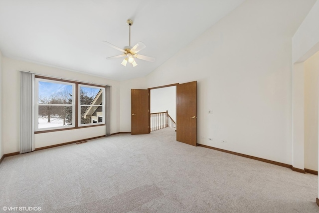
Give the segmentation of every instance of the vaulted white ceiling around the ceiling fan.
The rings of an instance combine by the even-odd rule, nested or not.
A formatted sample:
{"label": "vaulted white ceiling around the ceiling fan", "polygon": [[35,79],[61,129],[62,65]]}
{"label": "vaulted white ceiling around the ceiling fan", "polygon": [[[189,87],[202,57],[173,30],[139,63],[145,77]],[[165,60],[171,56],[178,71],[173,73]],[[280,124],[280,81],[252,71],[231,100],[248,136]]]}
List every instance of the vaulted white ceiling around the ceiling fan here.
{"label": "vaulted white ceiling around the ceiling fan", "polygon": [[[0,50],[7,57],[114,80],[146,76],[244,0],[0,0]],[[101,41],[146,44],[132,67]]]}

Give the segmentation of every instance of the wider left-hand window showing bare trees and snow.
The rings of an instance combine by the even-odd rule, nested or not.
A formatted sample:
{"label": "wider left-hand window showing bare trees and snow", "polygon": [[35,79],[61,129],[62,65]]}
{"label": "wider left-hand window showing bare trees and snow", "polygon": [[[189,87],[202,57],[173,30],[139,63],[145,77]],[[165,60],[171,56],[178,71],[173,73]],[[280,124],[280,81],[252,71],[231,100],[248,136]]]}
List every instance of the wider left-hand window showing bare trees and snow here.
{"label": "wider left-hand window showing bare trees and snow", "polygon": [[36,78],[35,91],[35,131],[74,127],[74,83]]}

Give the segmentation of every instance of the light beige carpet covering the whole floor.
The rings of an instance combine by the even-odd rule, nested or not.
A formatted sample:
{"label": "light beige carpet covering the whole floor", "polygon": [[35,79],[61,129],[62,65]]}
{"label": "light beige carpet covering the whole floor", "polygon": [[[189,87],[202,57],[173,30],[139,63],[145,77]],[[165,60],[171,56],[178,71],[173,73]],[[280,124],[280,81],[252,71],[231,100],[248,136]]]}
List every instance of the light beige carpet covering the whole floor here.
{"label": "light beige carpet covering the whole floor", "polygon": [[319,213],[318,176],[176,142],[169,128],[7,157],[0,184],[0,212]]}

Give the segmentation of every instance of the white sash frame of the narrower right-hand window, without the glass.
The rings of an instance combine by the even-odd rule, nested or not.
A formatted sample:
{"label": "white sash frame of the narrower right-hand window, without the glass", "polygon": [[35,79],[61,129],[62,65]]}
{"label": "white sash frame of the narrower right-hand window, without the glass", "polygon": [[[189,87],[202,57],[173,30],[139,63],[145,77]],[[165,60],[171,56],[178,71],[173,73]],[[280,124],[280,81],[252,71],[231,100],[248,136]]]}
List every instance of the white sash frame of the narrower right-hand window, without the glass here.
{"label": "white sash frame of the narrower right-hand window, without the glass", "polygon": [[[94,105],[94,104],[82,104],[81,105],[81,87],[88,87],[88,88],[94,88],[94,89],[101,89],[102,90],[102,105]],[[82,84],[79,83],[78,84],[78,126],[79,127],[87,127],[87,126],[97,126],[97,125],[105,125],[105,87],[102,86],[96,86],[96,85],[87,85],[87,84]],[[100,107],[102,106],[102,122],[97,122],[96,123],[88,123],[88,124],[81,124],[81,106],[97,106]],[[101,116],[97,116],[97,118],[99,118]]]}

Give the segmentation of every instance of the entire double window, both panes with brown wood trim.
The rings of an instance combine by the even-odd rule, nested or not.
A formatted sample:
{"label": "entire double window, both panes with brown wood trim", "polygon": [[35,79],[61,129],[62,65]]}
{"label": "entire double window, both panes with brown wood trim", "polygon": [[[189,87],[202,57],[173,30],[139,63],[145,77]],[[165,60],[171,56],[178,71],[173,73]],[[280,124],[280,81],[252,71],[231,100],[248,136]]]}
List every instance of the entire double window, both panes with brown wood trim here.
{"label": "entire double window, both panes with brown wood trim", "polygon": [[36,75],[35,132],[105,125],[105,95],[106,87]]}

